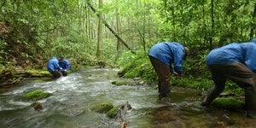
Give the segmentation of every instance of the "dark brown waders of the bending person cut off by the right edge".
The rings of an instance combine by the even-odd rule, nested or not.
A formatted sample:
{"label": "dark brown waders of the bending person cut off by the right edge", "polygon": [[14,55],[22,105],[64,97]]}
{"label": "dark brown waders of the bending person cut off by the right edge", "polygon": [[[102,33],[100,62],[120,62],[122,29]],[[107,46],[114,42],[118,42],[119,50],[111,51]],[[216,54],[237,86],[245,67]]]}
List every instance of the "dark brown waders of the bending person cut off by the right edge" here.
{"label": "dark brown waders of the bending person cut off by the right edge", "polygon": [[227,79],[245,89],[246,108],[256,112],[256,74],[241,62],[209,66],[214,84],[204,102],[210,104],[223,90]]}

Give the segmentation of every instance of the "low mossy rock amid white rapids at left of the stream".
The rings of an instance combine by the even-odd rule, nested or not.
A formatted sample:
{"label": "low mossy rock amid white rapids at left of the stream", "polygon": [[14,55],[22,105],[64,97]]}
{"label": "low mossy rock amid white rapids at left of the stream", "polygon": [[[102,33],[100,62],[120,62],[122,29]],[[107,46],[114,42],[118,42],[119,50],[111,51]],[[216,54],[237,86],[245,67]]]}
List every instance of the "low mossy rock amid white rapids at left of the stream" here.
{"label": "low mossy rock amid white rapids at left of the stream", "polygon": [[49,96],[53,96],[51,93],[46,93],[43,90],[33,90],[24,95],[26,100],[41,100],[47,98]]}

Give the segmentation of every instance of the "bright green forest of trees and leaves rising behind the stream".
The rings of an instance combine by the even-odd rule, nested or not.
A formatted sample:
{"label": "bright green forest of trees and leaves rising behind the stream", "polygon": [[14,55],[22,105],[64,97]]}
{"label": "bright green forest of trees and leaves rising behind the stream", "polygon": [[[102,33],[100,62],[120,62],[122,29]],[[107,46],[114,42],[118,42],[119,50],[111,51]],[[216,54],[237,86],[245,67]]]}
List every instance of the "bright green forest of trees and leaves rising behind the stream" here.
{"label": "bright green forest of trees and leaves rising behind the stream", "polygon": [[51,56],[73,66],[115,65],[127,51],[147,57],[162,41],[189,46],[200,67],[210,49],[250,41],[256,32],[250,0],[2,0],[0,6],[0,68],[45,68]]}

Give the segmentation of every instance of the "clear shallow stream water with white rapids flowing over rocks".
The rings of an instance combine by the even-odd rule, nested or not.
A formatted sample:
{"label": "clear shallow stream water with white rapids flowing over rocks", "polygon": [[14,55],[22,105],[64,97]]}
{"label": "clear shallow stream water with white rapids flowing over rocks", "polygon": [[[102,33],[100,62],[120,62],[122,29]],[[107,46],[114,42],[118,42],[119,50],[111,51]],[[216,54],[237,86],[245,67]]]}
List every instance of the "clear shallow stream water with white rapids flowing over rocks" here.
{"label": "clear shallow stream water with white rapids flowing over rocks", "polygon": [[[129,128],[169,127],[253,127],[256,119],[247,119],[240,111],[202,108],[196,102],[197,90],[172,86],[172,100],[158,101],[158,90],[149,85],[114,85],[120,79],[117,69],[83,69],[67,77],[45,82],[25,81],[0,93],[0,127],[17,128]],[[129,79],[125,79],[129,80]],[[131,79],[130,79],[131,80]],[[19,97],[32,90],[53,93],[44,100],[41,111]],[[90,108],[102,102],[113,106],[129,102],[125,119],[110,119]]]}

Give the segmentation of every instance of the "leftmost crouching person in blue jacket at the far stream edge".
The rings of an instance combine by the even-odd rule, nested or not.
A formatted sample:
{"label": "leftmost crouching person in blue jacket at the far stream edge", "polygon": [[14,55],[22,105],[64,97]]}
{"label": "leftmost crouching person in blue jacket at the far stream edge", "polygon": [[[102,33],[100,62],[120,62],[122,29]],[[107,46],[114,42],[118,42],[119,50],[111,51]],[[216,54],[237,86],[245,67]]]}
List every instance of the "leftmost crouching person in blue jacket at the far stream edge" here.
{"label": "leftmost crouching person in blue jacket at the far stream edge", "polygon": [[51,73],[55,78],[61,77],[61,67],[59,65],[59,61],[56,57],[51,57],[47,63],[47,70]]}

